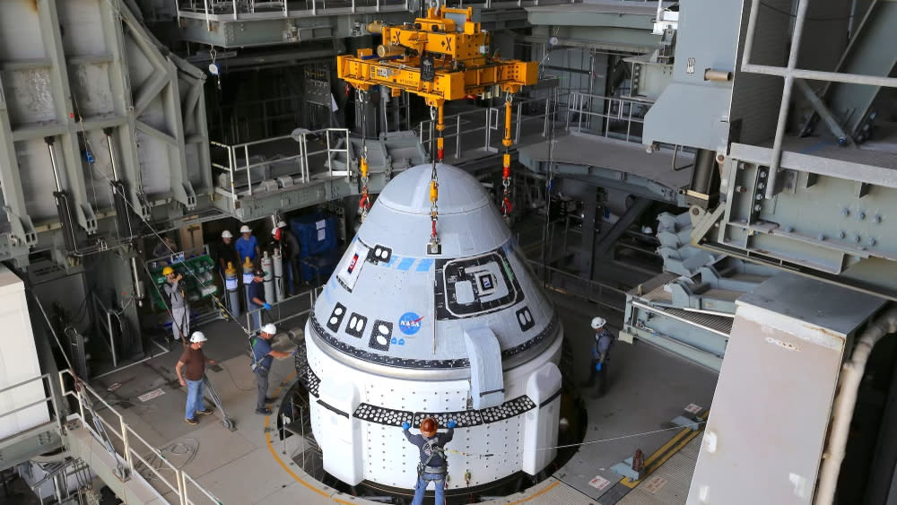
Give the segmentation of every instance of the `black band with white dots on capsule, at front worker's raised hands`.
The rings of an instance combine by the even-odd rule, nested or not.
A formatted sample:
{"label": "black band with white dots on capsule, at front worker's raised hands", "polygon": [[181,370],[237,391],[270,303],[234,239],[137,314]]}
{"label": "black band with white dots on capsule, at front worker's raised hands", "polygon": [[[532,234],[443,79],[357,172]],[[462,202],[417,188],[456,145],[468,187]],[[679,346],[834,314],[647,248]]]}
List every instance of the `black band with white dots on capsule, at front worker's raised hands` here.
{"label": "black band with white dots on capsule, at front worker's raised hands", "polygon": [[523,395],[509,400],[499,406],[482,410],[461,410],[456,412],[409,412],[395,410],[377,405],[361,404],[355,409],[354,417],[362,421],[376,422],[388,426],[401,426],[403,422],[411,422],[414,428],[420,428],[421,422],[433,417],[439,422],[440,429],[446,428],[448,421],[455,420],[457,428],[469,428],[490,422],[503,421],[536,408],[536,403],[529,396]]}

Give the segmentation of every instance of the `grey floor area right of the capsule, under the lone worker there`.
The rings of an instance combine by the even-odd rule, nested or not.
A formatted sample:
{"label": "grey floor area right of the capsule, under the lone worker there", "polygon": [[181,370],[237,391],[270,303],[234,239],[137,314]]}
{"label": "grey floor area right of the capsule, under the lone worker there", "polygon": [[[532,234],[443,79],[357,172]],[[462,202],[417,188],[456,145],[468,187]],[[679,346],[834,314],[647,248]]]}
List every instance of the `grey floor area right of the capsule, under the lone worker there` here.
{"label": "grey floor area right of the capsule, under the lone worker there", "polygon": [[[578,381],[582,381],[588,377],[590,364],[588,349],[592,331],[588,327],[589,321],[594,316],[602,316],[615,331],[622,326],[622,313],[599,311],[591,304],[561,295],[555,295],[554,302],[561,311],[564,336],[574,351],[576,361],[572,372]],[[611,505],[618,499],[602,499],[621,479],[610,467],[631,457],[637,448],[649,457],[671,440],[679,429],[670,421],[683,414],[687,405],[709,408],[717,383],[716,373],[648,344],[617,342],[612,353],[611,386],[607,395],[592,399],[590,390],[583,391],[588,411],[584,445],[554,474],[562,483],[602,505]],[[663,431],[640,434],[658,430]],[[610,483],[603,490],[589,485],[597,475]],[[685,496],[678,502],[684,501]]]}

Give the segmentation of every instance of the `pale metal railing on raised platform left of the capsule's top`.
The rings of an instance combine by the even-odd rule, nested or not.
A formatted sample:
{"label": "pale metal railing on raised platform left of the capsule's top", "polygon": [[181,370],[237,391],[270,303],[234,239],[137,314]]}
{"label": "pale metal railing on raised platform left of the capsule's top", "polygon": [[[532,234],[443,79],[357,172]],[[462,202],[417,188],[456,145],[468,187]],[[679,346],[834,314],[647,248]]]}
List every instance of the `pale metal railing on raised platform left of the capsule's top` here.
{"label": "pale metal railing on raised platform left of the capsule's top", "polygon": [[[309,151],[309,135],[324,136],[325,146]],[[308,183],[311,180],[311,162],[324,158],[323,165],[327,167],[328,177],[349,176],[349,165],[352,160],[352,149],[347,128],[323,128],[314,131],[303,131],[298,135],[281,135],[266,138],[255,142],[243,144],[222,144],[210,141],[210,153],[212,154],[212,167],[219,173],[228,177],[225,193],[230,193],[232,200],[237,200],[244,194],[252,196],[253,179],[255,182],[270,180],[268,173],[272,169],[283,170],[280,177],[293,177],[298,175],[300,183]],[[295,145],[295,151],[284,156],[283,152],[288,147]],[[314,144],[312,144],[314,145]],[[276,159],[267,159],[266,155],[277,153]],[[337,156],[343,156],[344,170],[335,170],[334,162]],[[254,161],[254,159],[256,161]],[[292,170],[292,167],[295,170]],[[317,174],[314,174],[317,175]],[[221,184],[218,187],[222,187]],[[228,191],[228,189],[230,191]]]}

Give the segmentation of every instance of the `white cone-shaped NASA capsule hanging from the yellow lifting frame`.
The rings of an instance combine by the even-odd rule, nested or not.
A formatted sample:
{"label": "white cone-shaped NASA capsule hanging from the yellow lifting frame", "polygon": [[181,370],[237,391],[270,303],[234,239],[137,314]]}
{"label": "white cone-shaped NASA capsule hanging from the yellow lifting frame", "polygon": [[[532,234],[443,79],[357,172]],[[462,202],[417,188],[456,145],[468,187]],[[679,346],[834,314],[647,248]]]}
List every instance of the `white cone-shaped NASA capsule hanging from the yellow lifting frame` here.
{"label": "white cone-shaped NASA capsule hanging from the yellow lifting frame", "polygon": [[441,251],[428,254],[431,166],[388,183],[305,328],[324,468],[413,488],[402,422],[457,422],[448,488],[536,475],[555,457],[562,326],[479,182],[438,165]]}

